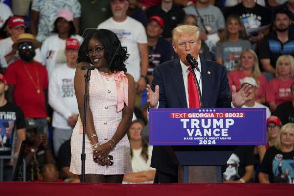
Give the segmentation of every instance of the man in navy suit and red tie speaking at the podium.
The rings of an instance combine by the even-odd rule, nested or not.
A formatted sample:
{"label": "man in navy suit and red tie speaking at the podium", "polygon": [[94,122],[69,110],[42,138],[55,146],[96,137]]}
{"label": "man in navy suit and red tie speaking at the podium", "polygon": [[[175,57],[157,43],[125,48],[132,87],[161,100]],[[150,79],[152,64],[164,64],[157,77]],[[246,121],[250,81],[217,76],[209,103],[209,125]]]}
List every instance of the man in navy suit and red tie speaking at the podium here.
{"label": "man in navy suit and red tie speaking at the podium", "polygon": [[[203,108],[230,108],[242,107],[251,99],[250,88],[246,84],[239,92],[232,86],[230,92],[226,69],[221,64],[207,61],[199,57],[201,40],[199,28],[191,25],[182,25],[172,32],[172,46],[178,54],[174,59],[157,66],[153,71],[152,88],[147,86],[147,102],[150,108],[192,108],[190,102],[199,97],[200,107]],[[199,71],[194,69],[197,81],[198,95],[189,94],[189,66],[186,56],[190,54],[198,61]],[[194,81],[195,82],[195,81]],[[202,98],[202,100],[201,100]],[[190,99],[190,100],[189,100]],[[177,182],[178,166],[172,162],[163,146],[154,146],[151,167],[156,168],[154,183]]]}

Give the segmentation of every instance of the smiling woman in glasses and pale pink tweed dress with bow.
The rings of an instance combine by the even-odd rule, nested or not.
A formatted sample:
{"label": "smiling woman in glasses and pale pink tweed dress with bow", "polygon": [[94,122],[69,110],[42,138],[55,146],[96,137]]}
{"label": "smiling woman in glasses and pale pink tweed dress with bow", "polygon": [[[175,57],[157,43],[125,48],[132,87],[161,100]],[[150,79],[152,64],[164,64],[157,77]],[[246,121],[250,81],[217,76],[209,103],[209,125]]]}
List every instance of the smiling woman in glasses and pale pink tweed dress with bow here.
{"label": "smiling woman in glasses and pale pink tweed dress with bow", "polygon": [[132,122],[135,83],[126,73],[128,54],[117,36],[105,29],[89,33],[79,49],[79,67],[74,78],[80,117],[71,138],[70,171],[81,175],[83,104],[85,79],[82,65],[90,73],[86,120],[85,182],[122,183],[132,172],[127,131]]}

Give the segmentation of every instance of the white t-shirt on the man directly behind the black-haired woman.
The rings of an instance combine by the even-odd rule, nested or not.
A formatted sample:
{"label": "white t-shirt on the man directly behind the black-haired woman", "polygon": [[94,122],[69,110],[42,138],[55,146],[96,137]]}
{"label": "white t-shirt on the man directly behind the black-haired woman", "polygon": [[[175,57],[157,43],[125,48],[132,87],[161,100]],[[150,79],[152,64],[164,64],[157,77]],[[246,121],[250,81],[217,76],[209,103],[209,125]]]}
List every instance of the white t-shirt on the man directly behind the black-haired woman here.
{"label": "white t-shirt on the man directly behind the black-haired woman", "polygon": [[126,61],[127,72],[133,75],[135,81],[138,81],[141,75],[138,44],[147,44],[147,36],[143,25],[131,17],[127,17],[123,22],[116,22],[110,17],[98,25],[97,28],[113,31],[122,42],[122,46],[127,47],[127,52],[130,54]]}

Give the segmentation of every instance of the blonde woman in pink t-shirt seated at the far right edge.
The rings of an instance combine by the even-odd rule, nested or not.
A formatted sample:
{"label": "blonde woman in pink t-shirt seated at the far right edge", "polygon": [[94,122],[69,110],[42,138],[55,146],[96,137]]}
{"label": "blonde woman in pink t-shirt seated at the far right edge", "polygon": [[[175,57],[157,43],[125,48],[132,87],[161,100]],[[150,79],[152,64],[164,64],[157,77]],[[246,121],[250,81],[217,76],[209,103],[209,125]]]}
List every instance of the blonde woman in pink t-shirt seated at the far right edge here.
{"label": "blonde woman in pink t-shirt seated at the far right edge", "polygon": [[276,73],[277,76],[269,82],[266,91],[266,100],[271,111],[292,99],[290,87],[294,82],[294,58],[291,55],[280,56],[276,63]]}

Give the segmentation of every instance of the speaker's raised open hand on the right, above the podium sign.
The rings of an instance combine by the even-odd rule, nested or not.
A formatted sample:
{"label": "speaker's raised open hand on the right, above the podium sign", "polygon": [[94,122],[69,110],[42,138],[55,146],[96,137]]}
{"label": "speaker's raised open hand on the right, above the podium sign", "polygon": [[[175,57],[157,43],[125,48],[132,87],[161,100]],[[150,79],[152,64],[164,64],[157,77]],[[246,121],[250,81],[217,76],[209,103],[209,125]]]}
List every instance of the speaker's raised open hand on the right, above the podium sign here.
{"label": "speaker's raised open hand on the right, above the podium sign", "polygon": [[232,85],[232,102],[233,106],[236,108],[242,107],[247,101],[252,99],[250,96],[251,87],[249,84],[245,84],[238,92],[236,92],[236,87]]}

